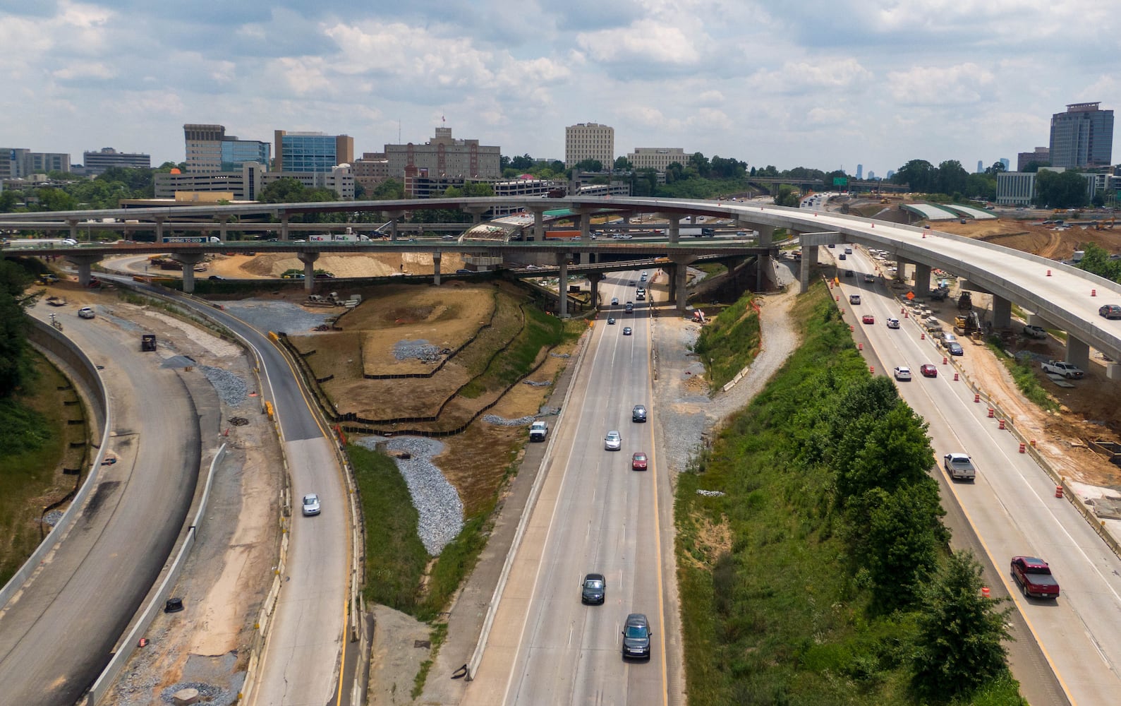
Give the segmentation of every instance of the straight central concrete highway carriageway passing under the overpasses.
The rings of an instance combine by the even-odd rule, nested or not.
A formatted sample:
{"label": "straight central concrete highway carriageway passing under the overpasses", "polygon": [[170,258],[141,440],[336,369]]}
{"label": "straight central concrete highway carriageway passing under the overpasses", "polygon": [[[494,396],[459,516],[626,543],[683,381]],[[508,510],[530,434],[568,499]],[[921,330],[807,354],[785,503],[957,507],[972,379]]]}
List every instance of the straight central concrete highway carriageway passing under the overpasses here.
{"label": "straight central concrete highway carriageway passing under the overpasses", "polygon": [[[659,519],[655,508],[654,423],[634,423],[631,409],[652,398],[648,309],[633,301],[638,273],[605,279],[606,301],[584,354],[586,367],[563,422],[552,430],[545,480],[479,675],[464,704],[657,704],[666,700],[665,618]],[[606,315],[618,323],[606,324]],[[633,329],[623,336],[624,327]],[[655,412],[656,413],[656,412]],[[622,450],[606,451],[606,431],[622,433]],[[633,471],[631,455],[651,455],[650,470]],[[658,498],[659,503],[669,502]],[[587,572],[606,577],[601,606],[581,603]],[[645,613],[654,632],[649,661],[624,661],[621,630],[629,613]]]}

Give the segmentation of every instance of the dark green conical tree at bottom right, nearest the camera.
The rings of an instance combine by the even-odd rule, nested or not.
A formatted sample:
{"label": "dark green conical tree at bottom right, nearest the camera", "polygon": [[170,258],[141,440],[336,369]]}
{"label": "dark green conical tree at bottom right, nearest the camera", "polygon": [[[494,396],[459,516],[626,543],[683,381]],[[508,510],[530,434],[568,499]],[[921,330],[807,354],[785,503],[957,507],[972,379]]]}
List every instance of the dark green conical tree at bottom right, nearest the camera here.
{"label": "dark green conical tree at bottom right, nearest the camera", "polygon": [[911,685],[938,700],[964,696],[1008,670],[1003,641],[1007,600],[981,595],[981,565],[972,552],[954,552],[920,592]]}

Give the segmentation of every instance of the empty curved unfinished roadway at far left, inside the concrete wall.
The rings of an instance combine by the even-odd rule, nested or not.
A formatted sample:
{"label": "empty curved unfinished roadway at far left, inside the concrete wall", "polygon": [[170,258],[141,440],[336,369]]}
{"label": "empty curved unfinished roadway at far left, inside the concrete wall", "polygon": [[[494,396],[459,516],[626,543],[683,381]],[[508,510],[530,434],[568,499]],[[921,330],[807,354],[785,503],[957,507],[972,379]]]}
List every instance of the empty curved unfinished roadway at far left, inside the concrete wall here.
{"label": "empty curved unfinished roadway at far left, inside the concrete wall", "polygon": [[[93,682],[159,576],[183,526],[201,456],[198,410],[163,357],[109,317],[56,313],[64,333],[98,365],[109,388],[118,462],[64,541],[0,613],[0,702],[74,703]],[[158,391],[159,394],[147,394]],[[216,405],[216,397],[213,400]],[[213,437],[215,429],[207,429]]]}

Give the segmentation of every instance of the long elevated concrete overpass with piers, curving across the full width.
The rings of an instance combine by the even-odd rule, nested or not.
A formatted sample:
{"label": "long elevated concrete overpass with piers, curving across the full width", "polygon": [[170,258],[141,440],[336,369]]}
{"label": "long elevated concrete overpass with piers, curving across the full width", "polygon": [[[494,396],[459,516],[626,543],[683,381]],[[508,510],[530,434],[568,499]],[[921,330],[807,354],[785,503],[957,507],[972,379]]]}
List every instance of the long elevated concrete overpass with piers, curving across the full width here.
{"label": "long elevated concrete overpass with piers, curving across the full width", "polygon": [[[474,214],[481,220],[483,213],[493,207],[522,208],[534,214],[534,232],[536,242],[487,242],[473,245],[470,242],[433,242],[415,244],[397,241],[397,221],[408,211],[421,209],[460,209]],[[544,213],[558,208],[571,209],[580,222],[581,238],[563,242],[541,242],[544,237]],[[288,241],[288,219],[294,214],[328,213],[328,212],[379,212],[391,223],[388,241],[361,244],[341,248],[335,244],[315,246],[312,244],[291,244]],[[591,238],[592,214],[618,213],[629,217],[638,213],[658,213],[669,219],[667,238],[663,241],[604,241]],[[1088,361],[1088,349],[1094,347],[1113,360],[1121,360],[1121,321],[1108,321],[1097,315],[1097,309],[1104,303],[1121,304],[1121,285],[1091,275],[1081,269],[1063,265],[1035,255],[1012,250],[960,236],[873,221],[869,219],[824,213],[807,212],[804,209],[789,209],[773,205],[758,205],[733,201],[700,201],[687,199],[652,199],[652,198],[615,198],[615,196],[566,196],[560,199],[507,199],[507,198],[457,198],[457,199],[424,199],[396,201],[348,201],[316,203],[271,203],[271,204],[237,204],[237,205],[196,205],[196,207],[158,207],[150,209],[117,209],[108,211],[65,211],[36,213],[0,214],[0,222],[26,223],[28,228],[41,228],[44,222],[66,223],[72,235],[80,233],[80,224],[90,219],[117,218],[142,220],[154,223],[157,232],[164,223],[172,219],[207,219],[197,223],[201,230],[224,228],[234,218],[269,217],[279,221],[278,229],[281,241],[270,244],[277,249],[297,250],[302,258],[314,262],[316,253],[323,250],[373,250],[376,248],[392,248],[395,250],[419,249],[430,251],[434,258],[439,253],[474,251],[483,248],[493,256],[506,256],[511,250],[553,251],[556,254],[562,276],[565,273],[567,258],[573,253],[630,253],[637,257],[664,256],[671,260],[675,271],[675,283],[684,284],[685,265],[692,258],[702,254],[742,254],[759,255],[760,268],[766,267],[768,255],[773,250],[772,235],[776,228],[784,228],[802,237],[804,246],[802,279],[807,283],[810,269],[816,264],[817,250],[813,246],[830,242],[859,242],[865,246],[881,248],[895,253],[900,263],[911,263],[916,266],[916,287],[924,292],[929,286],[929,273],[933,267],[941,267],[965,276],[969,286],[982,288],[993,295],[993,323],[1008,326],[1011,317],[1011,304],[1015,302],[1023,309],[1035,312],[1050,326],[1068,333],[1067,359],[1085,365]],[[758,230],[759,241],[747,242],[704,242],[700,239],[688,244],[679,242],[678,221],[683,216],[705,216],[732,219],[743,226]],[[35,226],[33,226],[33,223]],[[237,228],[237,224],[233,226]],[[210,250],[229,251],[229,244],[155,246],[161,251],[175,250],[180,258],[188,262],[192,257],[201,258]],[[254,249],[263,249],[261,244],[254,244]],[[50,250],[76,262],[80,269],[82,260],[95,262],[105,250],[121,251],[115,248],[74,248],[64,253]],[[142,251],[138,249],[137,251]],[[21,250],[35,254],[36,250]],[[10,251],[6,250],[6,254]],[[86,264],[85,267],[89,265]],[[308,263],[311,266],[311,263]],[[186,269],[186,268],[185,268]],[[186,272],[184,273],[186,274]],[[684,286],[676,287],[677,303],[684,305]],[[1110,365],[1111,377],[1121,376],[1121,366]]]}

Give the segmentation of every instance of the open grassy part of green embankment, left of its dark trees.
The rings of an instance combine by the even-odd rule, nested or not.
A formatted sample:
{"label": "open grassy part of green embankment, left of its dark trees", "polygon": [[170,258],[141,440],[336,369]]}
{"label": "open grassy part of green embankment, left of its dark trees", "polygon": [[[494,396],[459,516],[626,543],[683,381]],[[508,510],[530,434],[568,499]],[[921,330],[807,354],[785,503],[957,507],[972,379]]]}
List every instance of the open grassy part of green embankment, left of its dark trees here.
{"label": "open grassy part of green embankment, left of its dark trees", "polygon": [[[790,431],[867,376],[824,287],[798,302],[804,345],[679,477],[677,560],[691,706],[914,703],[909,614],[876,616],[828,512],[831,474],[791,458]],[[697,489],[721,490],[704,497]],[[1019,703],[1015,681],[975,704]]]}

